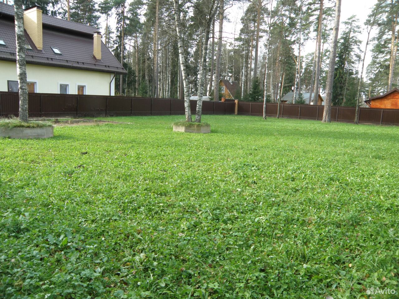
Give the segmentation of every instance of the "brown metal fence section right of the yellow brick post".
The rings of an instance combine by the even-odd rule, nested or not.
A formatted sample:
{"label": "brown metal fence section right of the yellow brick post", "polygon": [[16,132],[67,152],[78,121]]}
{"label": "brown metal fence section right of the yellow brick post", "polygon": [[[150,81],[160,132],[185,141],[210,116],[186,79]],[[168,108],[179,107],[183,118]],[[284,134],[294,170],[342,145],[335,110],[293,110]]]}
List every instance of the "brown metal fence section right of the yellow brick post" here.
{"label": "brown metal fence section right of the yellow brick post", "polygon": [[[266,104],[266,115],[277,117],[277,103]],[[331,107],[331,121],[353,123],[355,119],[355,107]],[[280,104],[281,118],[296,118],[308,120],[322,120],[324,106]],[[263,116],[263,103],[261,102],[239,102],[238,114]],[[359,108],[360,124],[399,125],[398,109],[373,109]]]}

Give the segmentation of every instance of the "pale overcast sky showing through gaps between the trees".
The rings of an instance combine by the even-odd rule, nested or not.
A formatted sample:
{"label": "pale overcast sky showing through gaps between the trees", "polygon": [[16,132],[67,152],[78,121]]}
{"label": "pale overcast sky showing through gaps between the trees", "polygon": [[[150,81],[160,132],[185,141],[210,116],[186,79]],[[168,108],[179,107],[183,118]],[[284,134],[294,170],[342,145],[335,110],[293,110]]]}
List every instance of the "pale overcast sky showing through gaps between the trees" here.
{"label": "pale overcast sky showing through gaps between the trees", "polygon": [[[101,2],[99,0],[96,0],[97,3]],[[365,46],[365,41],[367,39],[367,32],[365,31],[365,26],[363,25],[367,15],[371,11],[371,8],[373,5],[377,2],[377,0],[342,0],[342,6],[341,6],[341,26],[340,26],[340,33],[343,30],[342,22],[347,20],[350,16],[353,14],[356,15],[356,17],[359,19],[359,24],[362,29],[362,33],[359,36],[360,40],[363,41],[363,44],[361,46],[361,49],[364,49]],[[327,4],[330,6],[330,4]],[[224,22],[223,23],[223,39],[224,41],[227,42],[233,42],[233,37],[235,35],[239,34],[241,24],[240,24],[240,19],[241,16],[243,15],[243,12],[245,10],[245,6],[243,4],[236,4],[235,6],[228,8],[226,10],[226,15],[229,18],[229,22]],[[109,21],[111,23],[111,26],[115,28],[115,18],[111,18]],[[105,18],[101,18],[101,27],[102,31],[105,31]],[[371,33],[373,35],[373,32]],[[264,41],[260,42],[260,45],[263,45]],[[303,54],[306,55],[307,53],[314,52],[315,48],[315,41],[311,40],[306,45],[304,45],[304,49],[302,50]],[[369,51],[371,47],[369,46],[367,55],[366,55],[366,60],[365,60],[365,68],[371,61],[371,52]],[[260,50],[262,51],[262,49]],[[364,72],[365,73],[365,72]],[[364,74],[363,74],[364,75]]]}

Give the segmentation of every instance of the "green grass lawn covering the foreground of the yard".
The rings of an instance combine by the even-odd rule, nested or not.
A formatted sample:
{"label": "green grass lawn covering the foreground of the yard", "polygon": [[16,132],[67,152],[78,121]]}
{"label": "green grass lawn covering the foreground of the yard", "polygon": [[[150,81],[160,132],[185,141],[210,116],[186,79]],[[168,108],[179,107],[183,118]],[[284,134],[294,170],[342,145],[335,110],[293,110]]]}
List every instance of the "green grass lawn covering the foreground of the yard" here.
{"label": "green grass lawn covering the foreground of the yard", "polygon": [[182,118],[0,139],[0,297],[397,296],[398,127]]}

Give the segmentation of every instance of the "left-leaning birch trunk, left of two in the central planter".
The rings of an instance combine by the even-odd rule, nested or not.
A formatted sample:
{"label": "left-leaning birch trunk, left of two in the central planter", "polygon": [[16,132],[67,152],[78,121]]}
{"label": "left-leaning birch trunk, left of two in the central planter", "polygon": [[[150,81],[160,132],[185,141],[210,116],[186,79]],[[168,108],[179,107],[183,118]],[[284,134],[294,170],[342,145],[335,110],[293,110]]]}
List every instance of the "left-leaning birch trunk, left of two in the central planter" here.
{"label": "left-leaning birch trunk, left of two in the central planter", "polygon": [[186,112],[186,122],[191,122],[191,107],[190,107],[190,93],[188,86],[188,78],[186,71],[186,59],[184,58],[183,37],[182,37],[182,22],[180,20],[179,0],[174,0],[174,13],[176,22],[176,34],[179,46],[179,62],[180,71],[182,73],[182,81],[184,86],[184,110]]}

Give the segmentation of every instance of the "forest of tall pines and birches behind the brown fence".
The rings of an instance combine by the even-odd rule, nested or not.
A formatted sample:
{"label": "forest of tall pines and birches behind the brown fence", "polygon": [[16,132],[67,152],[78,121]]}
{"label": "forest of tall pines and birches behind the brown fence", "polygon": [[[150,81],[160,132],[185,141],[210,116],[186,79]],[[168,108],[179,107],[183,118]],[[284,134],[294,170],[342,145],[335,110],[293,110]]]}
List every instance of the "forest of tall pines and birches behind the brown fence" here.
{"label": "forest of tall pines and birches behind the brown fence", "polygon": [[[40,5],[45,14],[102,31],[104,43],[128,72],[117,76],[117,93],[184,98],[174,1],[24,0],[25,7],[33,4]],[[202,93],[215,100],[219,99],[219,79],[238,81],[243,89],[236,96],[241,100],[266,97],[276,102],[294,91],[298,95],[294,100],[303,102],[303,92],[326,92],[335,0],[184,0],[177,5],[189,94],[199,92],[202,65]],[[214,16],[211,5],[217,6]],[[228,13],[237,8],[244,9],[238,20],[241,24],[233,24],[232,29]],[[105,22],[100,23],[101,17]],[[359,99],[399,85],[398,22],[399,3],[393,0],[377,1],[365,24],[356,16],[342,20],[333,105],[355,106]],[[226,31],[236,32],[232,36]],[[367,41],[361,41],[359,36],[367,33]],[[315,51],[304,53],[309,43]],[[363,70],[366,49],[372,59]]]}

